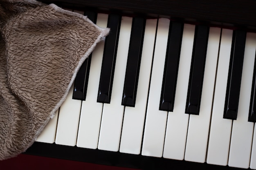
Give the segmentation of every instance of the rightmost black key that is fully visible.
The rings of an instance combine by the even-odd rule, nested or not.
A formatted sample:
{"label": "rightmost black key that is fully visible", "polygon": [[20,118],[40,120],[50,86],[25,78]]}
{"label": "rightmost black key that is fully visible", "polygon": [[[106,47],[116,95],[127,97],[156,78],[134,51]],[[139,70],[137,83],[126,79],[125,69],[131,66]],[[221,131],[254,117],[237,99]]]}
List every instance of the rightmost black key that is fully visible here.
{"label": "rightmost black key that is fully visible", "polygon": [[238,101],[242,78],[243,59],[245,52],[246,32],[236,30],[233,33],[231,58],[229,63],[229,77],[227,81],[227,92],[224,106],[225,119],[236,120]]}

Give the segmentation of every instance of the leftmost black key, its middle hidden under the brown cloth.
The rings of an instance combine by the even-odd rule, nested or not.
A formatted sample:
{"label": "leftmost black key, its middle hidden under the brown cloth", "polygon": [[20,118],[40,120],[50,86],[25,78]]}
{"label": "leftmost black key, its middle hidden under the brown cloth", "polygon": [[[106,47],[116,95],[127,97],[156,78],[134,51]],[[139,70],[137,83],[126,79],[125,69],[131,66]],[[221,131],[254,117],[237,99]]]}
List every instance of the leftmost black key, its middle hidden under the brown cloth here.
{"label": "leftmost black key, its middle hidden under the brown cloth", "polygon": [[[96,23],[97,20],[97,13],[94,12],[85,12],[85,16]],[[85,100],[87,86],[88,86],[88,79],[89,79],[89,71],[90,71],[90,64],[91,64],[92,54],[83,62],[81,68],[79,69],[75,81],[74,81],[74,90],[73,90],[73,99]]]}

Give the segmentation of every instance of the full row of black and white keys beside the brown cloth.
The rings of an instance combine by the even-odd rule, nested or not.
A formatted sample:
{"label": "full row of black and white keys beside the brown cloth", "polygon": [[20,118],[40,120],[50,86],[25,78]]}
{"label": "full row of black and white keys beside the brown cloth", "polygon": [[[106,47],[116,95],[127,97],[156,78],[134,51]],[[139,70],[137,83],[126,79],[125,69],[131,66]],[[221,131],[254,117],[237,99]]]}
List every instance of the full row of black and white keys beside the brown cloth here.
{"label": "full row of black and white keys beside the brown cloth", "polygon": [[256,169],[256,33],[85,14],[111,34],[36,141]]}

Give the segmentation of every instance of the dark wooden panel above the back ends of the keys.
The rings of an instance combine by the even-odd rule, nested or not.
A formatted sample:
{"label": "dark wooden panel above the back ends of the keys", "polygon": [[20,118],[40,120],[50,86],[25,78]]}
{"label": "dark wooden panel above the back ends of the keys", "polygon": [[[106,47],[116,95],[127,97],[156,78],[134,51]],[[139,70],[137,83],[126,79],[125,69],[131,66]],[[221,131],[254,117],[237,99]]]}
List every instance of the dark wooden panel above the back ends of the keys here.
{"label": "dark wooden panel above the back ends of the keys", "polygon": [[256,0],[42,0],[256,29]]}

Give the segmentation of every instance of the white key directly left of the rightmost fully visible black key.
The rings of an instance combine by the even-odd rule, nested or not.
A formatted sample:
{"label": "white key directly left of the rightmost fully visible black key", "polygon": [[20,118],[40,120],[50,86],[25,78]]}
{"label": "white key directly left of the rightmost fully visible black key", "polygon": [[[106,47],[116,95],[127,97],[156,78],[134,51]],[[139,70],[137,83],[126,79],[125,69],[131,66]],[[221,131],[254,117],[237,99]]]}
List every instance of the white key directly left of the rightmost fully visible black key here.
{"label": "white key directly left of the rightmost fully visible black key", "polygon": [[222,29],[207,154],[207,163],[223,166],[227,165],[232,125],[231,119],[223,119],[232,34],[232,30]]}

